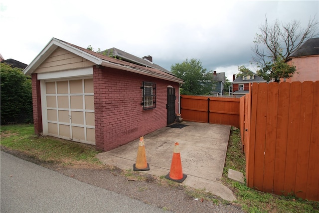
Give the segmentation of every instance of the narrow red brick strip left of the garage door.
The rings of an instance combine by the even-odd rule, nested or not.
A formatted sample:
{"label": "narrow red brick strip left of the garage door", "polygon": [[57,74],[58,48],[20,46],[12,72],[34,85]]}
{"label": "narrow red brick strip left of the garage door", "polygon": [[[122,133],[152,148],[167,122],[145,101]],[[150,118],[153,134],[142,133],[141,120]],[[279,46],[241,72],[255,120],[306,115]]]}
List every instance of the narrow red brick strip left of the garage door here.
{"label": "narrow red brick strip left of the garage door", "polygon": [[37,79],[37,74],[31,74],[32,79],[32,106],[33,106],[33,124],[34,134],[42,134],[42,110],[41,110],[41,92],[40,81]]}

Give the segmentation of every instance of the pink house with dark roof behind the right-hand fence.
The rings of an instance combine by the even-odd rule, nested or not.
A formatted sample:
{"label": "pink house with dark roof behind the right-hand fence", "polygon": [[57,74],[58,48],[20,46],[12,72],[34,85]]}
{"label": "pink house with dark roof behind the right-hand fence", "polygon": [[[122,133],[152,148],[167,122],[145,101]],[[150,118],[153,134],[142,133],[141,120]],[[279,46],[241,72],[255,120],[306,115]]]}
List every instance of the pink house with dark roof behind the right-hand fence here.
{"label": "pink house with dark roof behind the right-hand fence", "polygon": [[[290,56],[287,62],[296,66],[294,76],[286,79],[292,81],[318,81],[319,80],[319,38],[311,38],[303,43]],[[281,79],[284,81],[284,79]]]}

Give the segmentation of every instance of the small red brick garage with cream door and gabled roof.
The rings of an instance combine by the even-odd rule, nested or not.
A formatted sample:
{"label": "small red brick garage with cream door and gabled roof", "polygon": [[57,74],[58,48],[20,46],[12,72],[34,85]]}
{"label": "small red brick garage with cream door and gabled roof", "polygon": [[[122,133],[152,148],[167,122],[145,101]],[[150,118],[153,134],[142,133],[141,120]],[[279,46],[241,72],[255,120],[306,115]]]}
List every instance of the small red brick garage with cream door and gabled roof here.
{"label": "small red brick garage with cream door and gabled roof", "polygon": [[108,151],[174,123],[184,82],[145,64],[52,38],[23,71],[32,78],[35,134]]}

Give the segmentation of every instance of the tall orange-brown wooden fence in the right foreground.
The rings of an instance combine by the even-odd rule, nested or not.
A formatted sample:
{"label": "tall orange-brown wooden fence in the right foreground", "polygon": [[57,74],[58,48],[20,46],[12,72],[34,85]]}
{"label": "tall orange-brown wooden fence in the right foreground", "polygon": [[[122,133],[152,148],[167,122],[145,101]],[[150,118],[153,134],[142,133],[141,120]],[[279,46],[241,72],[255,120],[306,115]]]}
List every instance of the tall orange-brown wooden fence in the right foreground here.
{"label": "tall orange-brown wooden fence in the right foreground", "polygon": [[253,83],[240,130],[248,187],[319,201],[319,81]]}

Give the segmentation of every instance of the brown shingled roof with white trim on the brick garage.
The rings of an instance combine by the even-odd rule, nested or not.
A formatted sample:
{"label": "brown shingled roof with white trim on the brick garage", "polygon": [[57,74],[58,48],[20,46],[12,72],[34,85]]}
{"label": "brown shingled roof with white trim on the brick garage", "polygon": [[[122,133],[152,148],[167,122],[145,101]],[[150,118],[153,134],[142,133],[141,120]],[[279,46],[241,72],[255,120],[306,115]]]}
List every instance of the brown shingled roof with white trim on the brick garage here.
{"label": "brown shingled roof with white trim on the brick garage", "polygon": [[110,68],[116,68],[121,70],[126,70],[129,72],[134,72],[142,75],[147,75],[163,80],[168,80],[177,83],[184,83],[182,79],[169,74],[167,72],[155,69],[152,67],[145,67],[130,63],[127,61],[112,58],[100,53],[88,50],[86,48],[79,47],[77,45],[59,40],[57,38],[52,38],[49,43],[42,49],[42,51],[33,59],[33,61],[24,69],[23,73],[30,75],[33,73],[41,63],[51,55],[51,53],[58,47],[61,47],[69,52],[72,52],[80,57],[83,57],[96,65],[101,65]]}

